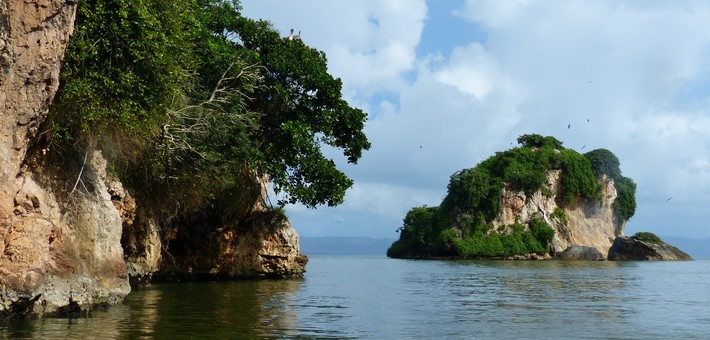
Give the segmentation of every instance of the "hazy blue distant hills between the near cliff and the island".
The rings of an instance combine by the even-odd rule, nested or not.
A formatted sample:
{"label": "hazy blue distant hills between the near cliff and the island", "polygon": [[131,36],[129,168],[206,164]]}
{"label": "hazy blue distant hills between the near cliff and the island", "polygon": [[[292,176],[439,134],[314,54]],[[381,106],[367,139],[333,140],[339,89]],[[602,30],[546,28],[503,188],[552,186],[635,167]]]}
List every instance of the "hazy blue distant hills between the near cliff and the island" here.
{"label": "hazy blue distant hills between the near cliff and the island", "polygon": [[380,255],[394,239],[372,237],[301,237],[304,255]]}

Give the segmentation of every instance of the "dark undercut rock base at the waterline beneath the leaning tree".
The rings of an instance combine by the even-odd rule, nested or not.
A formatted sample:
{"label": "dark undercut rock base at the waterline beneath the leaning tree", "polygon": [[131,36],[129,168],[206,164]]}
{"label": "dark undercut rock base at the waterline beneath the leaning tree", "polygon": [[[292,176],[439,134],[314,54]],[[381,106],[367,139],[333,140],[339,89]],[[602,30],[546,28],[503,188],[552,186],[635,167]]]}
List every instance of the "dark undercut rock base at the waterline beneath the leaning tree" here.
{"label": "dark undercut rock base at the waterline beneath the leaning tree", "polygon": [[[301,277],[308,258],[289,220],[264,205],[268,180],[245,171],[236,211],[203,210],[157,227],[155,218],[139,213],[124,224],[124,247],[131,283],[152,277],[169,279],[231,279]],[[140,209],[139,209],[140,210]]]}

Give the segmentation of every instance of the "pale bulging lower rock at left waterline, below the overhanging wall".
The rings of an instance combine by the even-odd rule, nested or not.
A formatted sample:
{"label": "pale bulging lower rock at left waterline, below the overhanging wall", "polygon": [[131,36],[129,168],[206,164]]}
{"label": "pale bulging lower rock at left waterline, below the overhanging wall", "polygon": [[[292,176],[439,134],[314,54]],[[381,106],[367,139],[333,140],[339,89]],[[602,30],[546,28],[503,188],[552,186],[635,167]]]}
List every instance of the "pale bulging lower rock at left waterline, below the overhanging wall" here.
{"label": "pale bulging lower rock at left waterline, below the overhanging wall", "polygon": [[130,292],[121,216],[108,194],[101,153],[65,159],[61,167],[52,162],[32,159],[18,176],[0,257],[5,317],[85,312]]}

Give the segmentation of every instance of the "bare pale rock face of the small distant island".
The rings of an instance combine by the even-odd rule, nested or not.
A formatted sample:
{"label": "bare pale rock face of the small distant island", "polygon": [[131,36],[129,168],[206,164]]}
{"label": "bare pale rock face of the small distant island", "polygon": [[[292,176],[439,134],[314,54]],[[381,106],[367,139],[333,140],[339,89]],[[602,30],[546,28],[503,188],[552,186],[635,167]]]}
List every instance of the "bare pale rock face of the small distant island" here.
{"label": "bare pale rock face of the small distant island", "polygon": [[[547,175],[547,193],[535,192],[527,197],[522,191],[503,188],[501,211],[493,221],[495,230],[503,230],[516,221],[527,222],[533,217],[545,220],[555,230],[552,252],[561,253],[573,246],[584,246],[606,254],[613,240],[623,234],[624,223],[614,217],[614,200],[617,193],[614,180],[604,176],[601,200],[575,198],[565,202],[562,198],[561,170],[551,170]],[[558,211],[556,213],[556,210]],[[558,216],[564,212],[564,218]]]}

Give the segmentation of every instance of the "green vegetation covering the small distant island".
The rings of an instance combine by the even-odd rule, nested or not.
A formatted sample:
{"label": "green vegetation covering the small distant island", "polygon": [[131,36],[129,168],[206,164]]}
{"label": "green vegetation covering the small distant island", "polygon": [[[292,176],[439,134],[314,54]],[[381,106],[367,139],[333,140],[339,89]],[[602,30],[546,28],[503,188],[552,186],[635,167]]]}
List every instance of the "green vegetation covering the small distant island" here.
{"label": "green vegetation covering the small distant island", "polygon": [[546,187],[547,173],[561,170],[561,189],[552,217],[567,223],[564,205],[575,198],[601,200],[599,179],[614,179],[618,196],[614,212],[626,221],[636,210],[636,184],[621,175],[618,158],[597,149],[586,154],[566,149],[554,137],[526,134],[519,147],[497,152],[476,167],[454,173],[448,193],[436,207],[415,207],[399,228],[400,238],[387,251],[390,257],[453,256],[464,258],[507,257],[549,252],[554,230],[543,219],[516,222],[494,230],[500,212],[503,188],[552,195]]}

